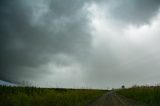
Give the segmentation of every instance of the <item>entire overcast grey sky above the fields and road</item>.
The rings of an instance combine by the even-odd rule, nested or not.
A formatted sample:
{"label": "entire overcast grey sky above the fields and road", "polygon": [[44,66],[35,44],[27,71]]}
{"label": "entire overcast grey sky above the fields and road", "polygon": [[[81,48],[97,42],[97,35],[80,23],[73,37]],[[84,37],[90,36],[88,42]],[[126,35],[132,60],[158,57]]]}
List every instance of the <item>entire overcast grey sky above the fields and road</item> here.
{"label": "entire overcast grey sky above the fields and road", "polygon": [[160,0],[1,0],[0,80],[160,83]]}

